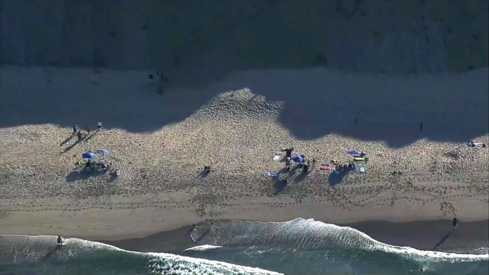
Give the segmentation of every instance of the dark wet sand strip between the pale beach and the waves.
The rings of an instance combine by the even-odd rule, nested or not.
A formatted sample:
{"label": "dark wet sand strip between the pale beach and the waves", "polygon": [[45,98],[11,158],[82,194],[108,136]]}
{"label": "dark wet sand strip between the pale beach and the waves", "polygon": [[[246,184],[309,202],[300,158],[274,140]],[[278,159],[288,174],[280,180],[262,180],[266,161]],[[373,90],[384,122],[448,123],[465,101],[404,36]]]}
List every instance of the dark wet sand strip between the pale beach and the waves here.
{"label": "dark wet sand strip between the pale beach and the waves", "polygon": [[[223,221],[233,222],[232,220]],[[197,226],[199,225],[208,226],[207,222],[197,224]],[[376,241],[396,246],[410,246],[419,250],[474,254],[471,251],[481,247],[489,247],[489,236],[487,233],[489,232],[488,219],[460,222],[453,232],[451,232],[451,220],[410,222],[369,220],[337,225],[356,229]],[[184,226],[143,238],[131,238],[119,241],[96,241],[131,251],[180,253],[184,249],[202,245],[193,242],[187,235],[191,228],[192,226]],[[433,249],[435,246],[437,246],[436,250]]]}

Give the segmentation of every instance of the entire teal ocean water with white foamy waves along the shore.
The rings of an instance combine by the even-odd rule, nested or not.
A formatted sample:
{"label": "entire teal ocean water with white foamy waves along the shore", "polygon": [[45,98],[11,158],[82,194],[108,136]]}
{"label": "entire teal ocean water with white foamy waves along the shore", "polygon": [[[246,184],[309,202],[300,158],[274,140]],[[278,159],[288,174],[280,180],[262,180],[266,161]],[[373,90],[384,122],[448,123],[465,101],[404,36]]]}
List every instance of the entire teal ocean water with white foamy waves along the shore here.
{"label": "entire teal ocean water with white foamy waves along the shore", "polygon": [[385,244],[313,219],[214,221],[191,233],[196,246],[140,253],[81,239],[1,236],[0,274],[489,274],[488,249],[471,254]]}

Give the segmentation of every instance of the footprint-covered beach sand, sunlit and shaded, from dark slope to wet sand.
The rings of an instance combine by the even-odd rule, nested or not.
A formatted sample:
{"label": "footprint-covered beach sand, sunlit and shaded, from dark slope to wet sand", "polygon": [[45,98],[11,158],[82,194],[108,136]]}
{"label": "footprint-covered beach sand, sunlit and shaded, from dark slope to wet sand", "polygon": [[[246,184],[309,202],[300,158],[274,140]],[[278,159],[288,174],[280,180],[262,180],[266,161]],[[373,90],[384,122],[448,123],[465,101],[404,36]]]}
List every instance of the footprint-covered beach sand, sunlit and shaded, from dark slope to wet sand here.
{"label": "footprint-covered beach sand, sunlit and shaded, from dark slope to wet sand", "polygon": [[[488,70],[356,75],[244,71],[164,95],[147,72],[1,68],[1,234],[117,240],[199,221],[333,223],[488,218]],[[354,118],[359,125],[354,126]],[[101,119],[84,141],[70,126]],[[424,122],[419,132],[419,122]],[[466,131],[462,131],[466,130]],[[264,175],[284,146],[317,160],[280,192]],[[87,176],[86,150],[121,175]],[[367,152],[367,172],[330,186],[318,165]],[[204,165],[212,172],[198,178]],[[392,171],[402,170],[401,176]],[[282,174],[282,177],[287,177]]]}

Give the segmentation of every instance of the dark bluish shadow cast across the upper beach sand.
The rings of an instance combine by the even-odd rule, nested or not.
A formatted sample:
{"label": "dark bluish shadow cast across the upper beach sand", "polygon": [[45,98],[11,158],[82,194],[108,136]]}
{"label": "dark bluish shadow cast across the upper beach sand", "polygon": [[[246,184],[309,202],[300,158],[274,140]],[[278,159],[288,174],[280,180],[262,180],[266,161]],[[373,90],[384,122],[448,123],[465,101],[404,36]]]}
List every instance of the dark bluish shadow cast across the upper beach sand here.
{"label": "dark bluish shadow cast across the upper beach sand", "polygon": [[[202,68],[194,69],[200,74],[207,73]],[[467,73],[474,79],[482,80],[464,91],[465,96],[461,98],[458,97],[457,87],[465,80],[456,78],[448,79],[449,83],[437,81],[423,85],[424,83],[420,83],[415,77],[407,78],[406,85],[399,85],[393,82],[395,78],[393,80],[385,76],[384,79],[379,76],[379,79],[375,78],[368,84],[360,85],[355,83],[362,83],[358,81],[364,77],[362,75],[343,74],[322,68],[295,72],[271,70],[267,74],[268,77],[263,77],[262,74],[263,72],[258,70],[243,71],[227,79],[224,73],[221,75],[222,80],[208,81],[202,88],[182,88],[175,84],[174,87],[170,86],[162,97],[147,87],[146,78],[134,72],[127,73],[114,78],[125,81],[114,80],[104,83],[113,89],[97,94],[98,100],[113,102],[116,98],[117,104],[97,112],[73,112],[70,108],[46,110],[42,101],[35,104],[25,102],[24,98],[38,98],[41,91],[44,93],[45,87],[42,85],[35,89],[25,89],[22,92],[23,97],[18,97],[19,89],[5,89],[2,91],[0,125],[11,127],[53,123],[70,127],[78,121],[97,121],[102,118],[104,123],[113,128],[138,133],[150,132],[183,121],[224,91],[249,88],[254,95],[264,96],[269,102],[287,102],[280,110],[278,121],[293,136],[300,139],[311,140],[335,133],[362,140],[383,140],[390,146],[401,147],[421,138],[464,142],[488,133],[488,93],[485,92],[487,81],[483,81],[487,79],[487,71],[484,70]],[[8,77],[2,78],[12,82],[16,81],[16,77],[15,74],[9,73]],[[194,76],[189,77],[188,73],[185,73],[185,77],[184,74],[181,77],[190,81],[189,78]],[[6,81],[3,79],[2,82]],[[79,89],[83,89],[85,84],[92,87],[89,81],[85,83],[75,77],[73,81],[77,83],[74,85],[79,84]],[[175,79],[176,83],[179,83],[178,81]],[[400,91],[381,91],[380,88],[385,86],[385,81],[392,87],[399,87]],[[127,87],[127,82],[131,82],[132,86]],[[59,90],[66,94],[57,103],[59,105],[68,106],[72,102],[79,102],[80,105],[92,103],[92,99],[80,93],[79,89],[70,91],[61,85],[52,93]],[[135,97],[141,89],[148,91]],[[182,93],[182,89],[188,90],[188,93]],[[330,96],[324,96],[325,91],[333,90],[334,93]],[[379,92],[365,92],[370,90]],[[444,92],[430,92],[432,90]],[[300,97],[297,96],[298,91],[301,91]],[[49,94],[45,97],[49,98]],[[294,100],[290,100],[292,98]],[[437,104],[427,105],[429,102]],[[144,108],[135,108],[135,105]],[[24,115],[27,112],[32,115]],[[114,116],[114,113],[121,115]],[[125,119],[125,116],[131,119]],[[132,119],[134,117],[140,119]],[[357,125],[355,118],[358,118]],[[421,121],[424,125],[422,132],[419,131]]]}

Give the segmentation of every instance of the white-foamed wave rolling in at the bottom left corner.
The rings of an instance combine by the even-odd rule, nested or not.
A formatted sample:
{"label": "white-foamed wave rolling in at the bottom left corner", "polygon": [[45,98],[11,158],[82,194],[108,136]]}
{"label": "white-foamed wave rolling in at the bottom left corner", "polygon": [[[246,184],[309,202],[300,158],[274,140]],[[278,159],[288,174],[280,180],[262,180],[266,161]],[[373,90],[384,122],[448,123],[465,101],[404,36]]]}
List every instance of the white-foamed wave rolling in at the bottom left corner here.
{"label": "white-foamed wave rolling in at the bottom left corner", "polygon": [[167,253],[127,251],[112,245],[56,236],[1,236],[2,274],[279,274],[259,268]]}

